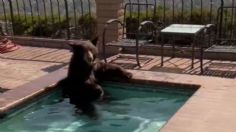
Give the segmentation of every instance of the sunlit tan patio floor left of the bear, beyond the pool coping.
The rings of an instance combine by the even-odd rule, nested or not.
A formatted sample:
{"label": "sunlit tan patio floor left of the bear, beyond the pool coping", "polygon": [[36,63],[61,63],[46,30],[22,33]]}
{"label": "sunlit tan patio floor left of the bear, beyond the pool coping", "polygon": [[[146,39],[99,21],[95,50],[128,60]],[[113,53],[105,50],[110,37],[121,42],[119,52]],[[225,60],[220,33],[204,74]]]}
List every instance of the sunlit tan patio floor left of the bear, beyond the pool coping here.
{"label": "sunlit tan patio floor left of the bear, beyond the pool coping", "polygon": [[14,89],[68,64],[71,53],[64,49],[21,46],[0,54],[0,88]]}

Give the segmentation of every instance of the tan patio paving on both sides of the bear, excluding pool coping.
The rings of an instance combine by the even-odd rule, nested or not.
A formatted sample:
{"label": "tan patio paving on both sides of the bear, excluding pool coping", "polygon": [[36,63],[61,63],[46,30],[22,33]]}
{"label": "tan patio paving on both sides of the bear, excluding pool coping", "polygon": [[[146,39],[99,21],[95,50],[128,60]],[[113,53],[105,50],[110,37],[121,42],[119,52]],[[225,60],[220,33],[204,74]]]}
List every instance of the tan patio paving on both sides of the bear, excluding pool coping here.
{"label": "tan patio paving on both sides of the bear, excluding pool coping", "polygon": [[[21,46],[19,50],[0,54],[0,88],[14,89],[59,68],[68,65],[71,52],[66,49]],[[112,63],[127,69],[148,70],[177,74],[200,75],[199,60],[190,68],[191,60],[165,57],[164,67],[160,67],[160,56],[140,57],[143,67],[136,65],[134,55],[123,54],[111,57]],[[224,78],[236,77],[236,62],[204,60],[203,75]]]}

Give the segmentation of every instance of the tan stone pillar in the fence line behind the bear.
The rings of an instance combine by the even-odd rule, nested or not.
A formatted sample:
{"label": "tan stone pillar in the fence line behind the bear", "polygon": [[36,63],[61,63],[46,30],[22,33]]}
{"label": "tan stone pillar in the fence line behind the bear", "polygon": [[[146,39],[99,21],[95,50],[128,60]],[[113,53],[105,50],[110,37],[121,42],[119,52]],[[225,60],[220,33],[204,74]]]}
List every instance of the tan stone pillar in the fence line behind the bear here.
{"label": "tan stone pillar in the fence line behind the bear", "polygon": [[[107,20],[112,18],[119,18],[121,11],[121,4],[123,0],[96,0],[96,15],[97,15],[97,31],[99,40],[102,40],[102,32]],[[118,24],[111,25],[108,30],[107,41],[116,40],[119,36]],[[98,44],[99,51],[102,50],[101,43]]]}

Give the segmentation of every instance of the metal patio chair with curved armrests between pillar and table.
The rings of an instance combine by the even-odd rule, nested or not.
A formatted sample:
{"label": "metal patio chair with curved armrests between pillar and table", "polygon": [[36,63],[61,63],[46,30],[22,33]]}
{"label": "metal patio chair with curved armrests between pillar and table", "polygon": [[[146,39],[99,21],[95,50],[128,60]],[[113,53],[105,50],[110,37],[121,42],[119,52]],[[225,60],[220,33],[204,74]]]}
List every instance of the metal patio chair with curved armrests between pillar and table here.
{"label": "metal patio chair with curved armrests between pillar and table", "polygon": [[[155,4],[126,3],[124,5],[123,21],[119,19],[110,19],[105,24],[102,39],[104,61],[107,62],[106,46],[115,46],[121,48],[134,47],[137,65],[141,66],[139,61],[139,48],[149,43],[150,41],[153,41],[153,36],[156,36],[153,35],[153,27],[147,25],[146,22],[141,22],[145,20],[153,21],[155,13]],[[119,25],[121,25],[122,35],[120,39],[106,43],[107,29],[112,23],[118,23]],[[142,24],[142,26],[140,24]]]}

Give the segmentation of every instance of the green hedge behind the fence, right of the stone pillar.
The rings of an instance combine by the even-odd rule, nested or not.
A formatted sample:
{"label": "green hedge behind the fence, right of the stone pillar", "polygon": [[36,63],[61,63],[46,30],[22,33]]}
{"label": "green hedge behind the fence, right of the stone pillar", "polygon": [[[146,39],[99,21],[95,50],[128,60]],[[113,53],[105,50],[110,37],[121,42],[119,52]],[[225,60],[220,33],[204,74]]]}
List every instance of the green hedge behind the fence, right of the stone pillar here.
{"label": "green hedge behind the fence, right of the stone pillar", "polygon": [[[152,20],[152,21],[164,21],[165,25],[168,25],[170,23],[193,23],[193,24],[206,24],[211,23],[210,22],[210,16],[214,19],[216,18],[216,12],[214,11],[212,14],[210,14],[209,10],[203,9],[202,12],[200,9],[193,9],[192,13],[190,10],[184,11],[182,13],[181,10],[176,10],[173,12],[170,8],[163,8],[162,6],[158,6],[156,8],[156,14],[155,16],[153,14],[150,14],[150,12],[153,12],[153,10],[148,11],[148,17],[146,16],[145,12],[141,12],[139,16],[139,20]],[[164,15],[165,13],[165,15]],[[165,18],[164,18],[165,17]],[[125,19],[132,18],[131,21],[134,21],[134,19],[138,20],[138,14],[136,12],[127,13],[125,16]]]}

